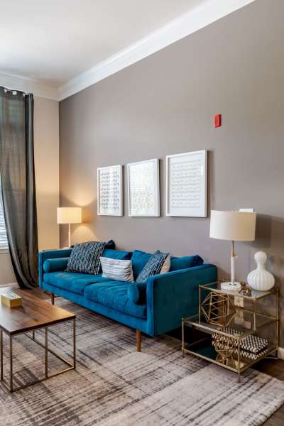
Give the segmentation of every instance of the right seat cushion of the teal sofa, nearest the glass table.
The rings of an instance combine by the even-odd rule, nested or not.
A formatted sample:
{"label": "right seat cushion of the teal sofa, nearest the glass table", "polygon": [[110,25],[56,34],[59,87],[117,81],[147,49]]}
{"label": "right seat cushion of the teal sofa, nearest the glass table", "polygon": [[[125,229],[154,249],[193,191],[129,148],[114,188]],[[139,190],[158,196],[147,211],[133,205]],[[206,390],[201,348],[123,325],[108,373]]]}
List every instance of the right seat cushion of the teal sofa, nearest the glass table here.
{"label": "right seat cushion of the teal sofa, nearest the glass table", "polygon": [[124,281],[104,281],[87,285],[84,288],[84,297],[133,317],[146,318],[146,305],[136,305],[129,300],[127,295],[129,285],[131,284]]}

